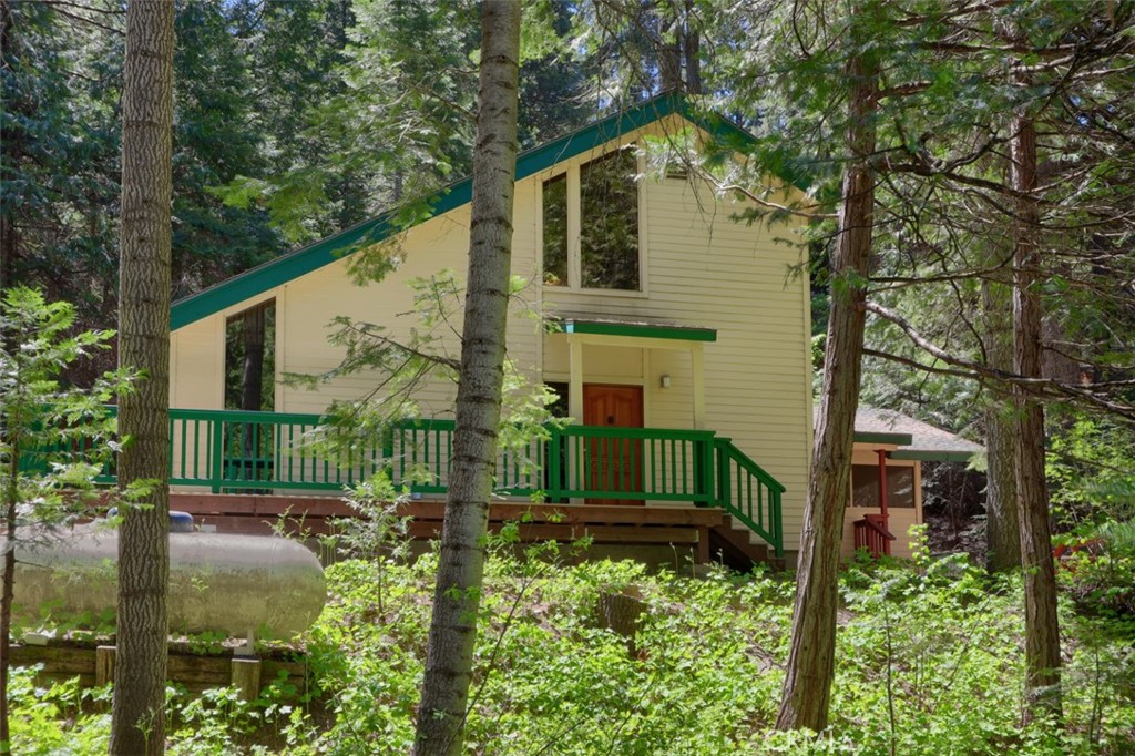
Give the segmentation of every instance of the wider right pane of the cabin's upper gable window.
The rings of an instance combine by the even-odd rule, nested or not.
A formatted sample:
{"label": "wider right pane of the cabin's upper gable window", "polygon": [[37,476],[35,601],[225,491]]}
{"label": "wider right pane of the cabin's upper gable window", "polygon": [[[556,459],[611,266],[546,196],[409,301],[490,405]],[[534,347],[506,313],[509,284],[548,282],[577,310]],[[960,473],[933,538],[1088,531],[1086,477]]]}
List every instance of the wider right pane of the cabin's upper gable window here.
{"label": "wider right pane of the cabin's upper gable window", "polygon": [[580,168],[580,285],[640,291],[638,160],[617,150]]}

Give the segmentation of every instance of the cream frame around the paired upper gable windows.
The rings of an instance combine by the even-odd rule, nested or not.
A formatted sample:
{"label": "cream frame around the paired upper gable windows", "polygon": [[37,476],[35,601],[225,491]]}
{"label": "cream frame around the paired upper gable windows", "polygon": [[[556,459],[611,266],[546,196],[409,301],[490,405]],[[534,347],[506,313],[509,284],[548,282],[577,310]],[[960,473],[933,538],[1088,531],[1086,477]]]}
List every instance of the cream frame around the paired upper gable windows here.
{"label": "cream frame around the paired upper gable windows", "polygon": [[[595,150],[579,159],[572,160],[566,166],[556,166],[552,170],[544,171],[537,178],[536,205],[537,205],[537,251],[539,254],[539,282],[541,288],[549,292],[563,292],[572,294],[588,294],[597,296],[616,296],[645,299],[648,296],[648,270],[647,270],[647,201],[642,182],[636,180],[636,196],[638,198],[638,279],[639,287],[631,288],[590,288],[582,286],[583,280],[583,255],[582,255],[582,196],[580,170],[583,166],[608,156],[616,150],[633,150],[634,167],[637,175],[642,174],[642,158],[638,154],[637,145],[633,142],[621,144],[608,150]],[[544,185],[550,180],[564,176],[566,178],[566,215],[568,215],[568,280],[564,284],[547,284],[544,279]]]}

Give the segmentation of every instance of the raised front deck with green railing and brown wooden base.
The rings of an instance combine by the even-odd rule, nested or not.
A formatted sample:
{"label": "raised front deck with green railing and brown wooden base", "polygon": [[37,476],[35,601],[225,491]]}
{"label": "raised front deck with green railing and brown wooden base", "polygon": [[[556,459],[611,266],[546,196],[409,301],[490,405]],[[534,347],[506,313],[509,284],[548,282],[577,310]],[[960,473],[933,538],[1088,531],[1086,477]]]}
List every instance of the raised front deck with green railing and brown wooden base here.
{"label": "raised front deck with green railing and brown wooden base", "polygon": [[[414,518],[412,535],[439,531],[453,421],[392,423],[345,457],[316,443],[323,421],[316,414],[170,410],[174,506],[207,526],[219,524],[209,518],[224,519],[224,529],[255,530],[285,512],[318,524],[353,514],[337,501],[345,487],[385,473],[407,494],[403,509]],[[115,480],[112,467],[100,477]],[[762,547],[755,554],[767,549],[779,558],[783,492],[712,430],[549,425],[521,448],[501,453],[491,520],[528,518],[522,529],[532,539],[688,543],[703,560],[715,543],[743,552],[753,540]]]}

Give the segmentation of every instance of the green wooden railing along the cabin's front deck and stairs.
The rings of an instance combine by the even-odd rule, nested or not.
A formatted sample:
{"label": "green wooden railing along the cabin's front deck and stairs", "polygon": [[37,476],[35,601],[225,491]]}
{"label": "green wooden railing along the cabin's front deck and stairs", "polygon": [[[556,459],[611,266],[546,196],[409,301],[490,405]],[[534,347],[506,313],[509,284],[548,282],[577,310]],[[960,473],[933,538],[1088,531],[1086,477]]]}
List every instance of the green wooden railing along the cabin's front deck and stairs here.
{"label": "green wooden railing along the cabin's front deck and stairs", "polygon": [[[403,420],[335,459],[314,444],[323,418],[295,412],[169,411],[170,484],[213,493],[338,492],[379,471],[421,494],[448,490],[452,420]],[[497,459],[497,492],[548,502],[721,506],[783,552],[784,487],[712,430],[548,426]],[[75,450],[79,452],[79,450]],[[98,478],[115,481],[114,462]]]}

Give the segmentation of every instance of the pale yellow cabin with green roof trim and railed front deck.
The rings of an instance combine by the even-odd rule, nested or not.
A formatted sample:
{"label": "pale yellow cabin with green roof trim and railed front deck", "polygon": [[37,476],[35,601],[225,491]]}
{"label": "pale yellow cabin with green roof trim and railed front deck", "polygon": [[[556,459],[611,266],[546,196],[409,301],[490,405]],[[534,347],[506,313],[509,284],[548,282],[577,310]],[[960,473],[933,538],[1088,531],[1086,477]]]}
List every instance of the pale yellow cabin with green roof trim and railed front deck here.
{"label": "pale yellow cabin with green roof trim and railed front deck", "polygon": [[[493,519],[528,510],[533,538],[588,532],[597,543],[678,544],[701,560],[791,560],[813,414],[809,287],[792,272],[804,252],[785,243],[801,221],[737,222],[746,200],[676,167],[644,176],[644,140],[679,133],[718,144],[750,138],[663,96],[518,160],[513,272],[528,283],[515,309],[548,313],[555,326],[514,312],[508,359],[555,390],[573,422],[531,442],[524,456],[539,469],[502,455]],[[317,390],[285,376],[339,364],[344,350],[328,342],[336,317],[409,337],[418,326],[405,316],[410,282],[444,269],[464,275],[470,196],[470,179],[459,182],[407,228],[380,216],[174,304],[175,506],[196,507],[208,522],[225,494],[229,511],[258,514],[291,495],[304,502],[292,511],[318,514],[331,511],[328,495],[344,484],[385,468],[411,485],[418,532],[436,532],[453,383],[422,386],[415,419],[338,464],[310,448],[306,434],[333,400],[359,400],[381,376]],[[375,244],[389,245],[401,264],[380,283],[355,285],[348,266]],[[243,397],[233,388],[250,324],[266,342],[253,405],[247,386]],[[456,331],[440,344],[456,354]],[[544,501],[535,510],[533,495]]]}

